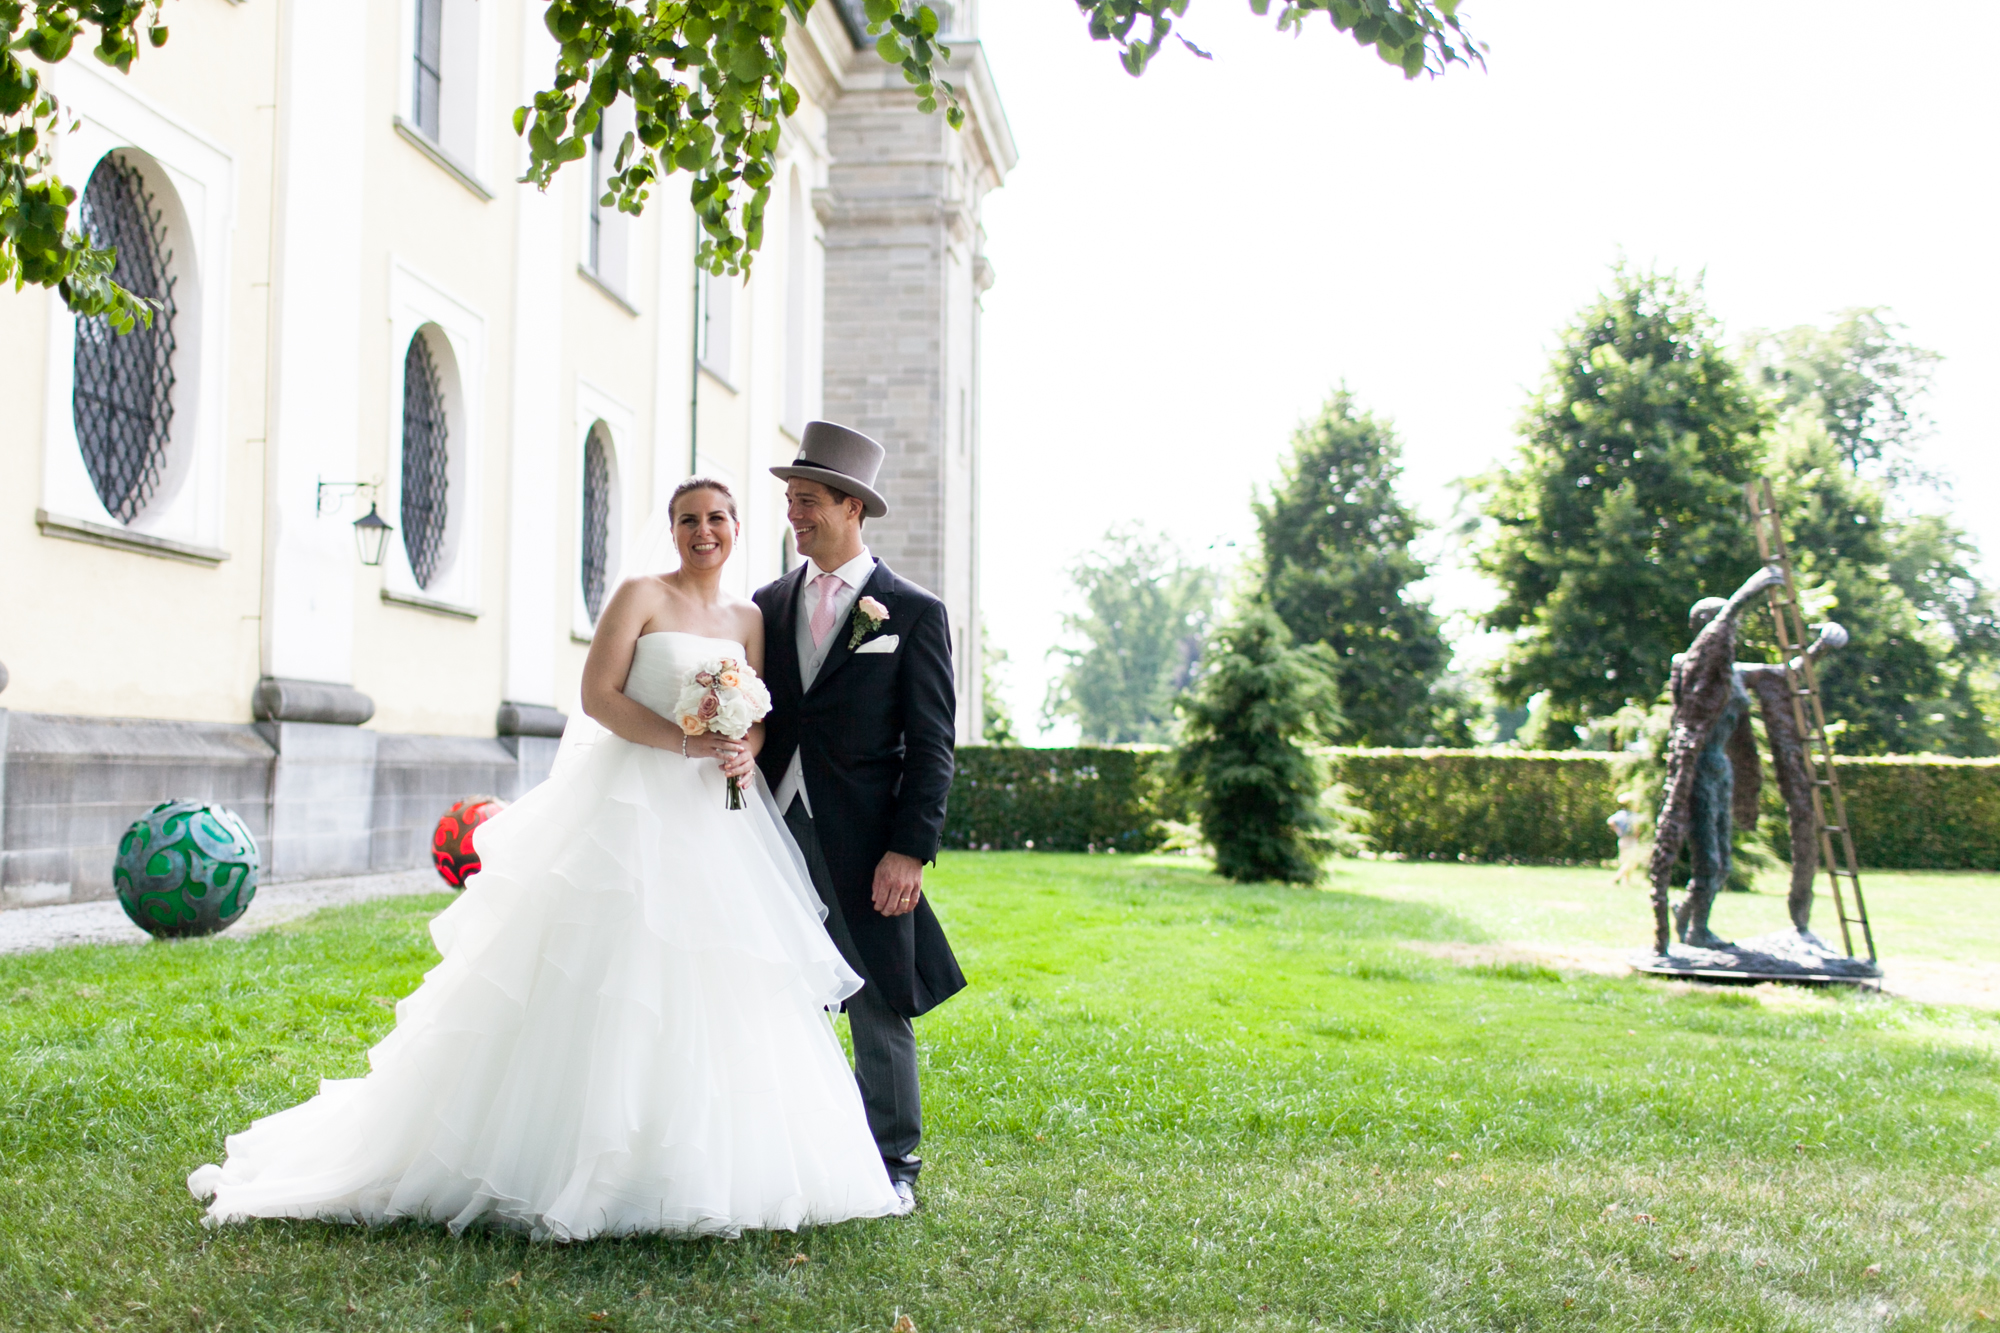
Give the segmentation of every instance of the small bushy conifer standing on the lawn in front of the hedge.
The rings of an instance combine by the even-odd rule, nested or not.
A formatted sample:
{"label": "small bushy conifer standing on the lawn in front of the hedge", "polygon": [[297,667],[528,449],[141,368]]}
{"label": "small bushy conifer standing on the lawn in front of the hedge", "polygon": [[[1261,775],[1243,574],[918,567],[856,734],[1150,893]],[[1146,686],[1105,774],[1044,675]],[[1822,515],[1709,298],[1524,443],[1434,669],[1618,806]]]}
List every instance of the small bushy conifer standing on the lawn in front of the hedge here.
{"label": "small bushy conifer standing on the lawn in front of the hedge", "polygon": [[1200,689],[1184,705],[1180,777],[1194,785],[1216,871],[1310,885],[1332,851],[1320,805],[1326,775],[1308,747],[1340,705],[1322,644],[1292,646],[1284,622],[1250,604],[1210,640]]}

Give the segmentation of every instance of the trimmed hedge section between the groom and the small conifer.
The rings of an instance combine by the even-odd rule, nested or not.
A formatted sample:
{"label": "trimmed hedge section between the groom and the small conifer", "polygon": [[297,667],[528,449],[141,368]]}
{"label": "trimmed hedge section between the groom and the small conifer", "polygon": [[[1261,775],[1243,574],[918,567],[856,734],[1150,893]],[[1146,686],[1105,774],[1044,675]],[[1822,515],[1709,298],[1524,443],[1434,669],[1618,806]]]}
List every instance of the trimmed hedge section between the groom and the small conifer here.
{"label": "trimmed hedge section between the groom and the small conifer", "polygon": [[970,745],[944,815],[944,845],[966,849],[1142,853],[1186,819],[1168,789],[1166,749]]}

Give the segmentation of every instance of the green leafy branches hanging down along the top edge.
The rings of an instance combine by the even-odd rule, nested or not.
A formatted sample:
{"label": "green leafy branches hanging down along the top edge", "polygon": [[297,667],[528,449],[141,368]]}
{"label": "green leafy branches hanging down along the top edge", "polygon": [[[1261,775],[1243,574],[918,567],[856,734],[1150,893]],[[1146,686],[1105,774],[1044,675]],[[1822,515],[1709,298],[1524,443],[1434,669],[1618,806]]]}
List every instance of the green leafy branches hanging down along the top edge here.
{"label": "green leafy branches hanging down along the top edge", "polygon": [[[856,14],[884,60],[902,68],[916,104],[964,124],[946,78],[952,52],[940,16],[918,0],[834,0]],[[798,108],[786,80],[786,26],[806,22],[814,0],[548,0],[558,42],[550,86],[514,110],[528,140],[524,182],[548,188],[564,162],[590,150],[604,114],[628,98],[632,128],[614,148],[602,204],[638,214],[652,186],[688,172],[702,224],[700,262],[744,272],[764,240],[778,122]],[[1484,64],[1458,22],[1460,0],[1282,0],[1278,30],[1314,14],[1404,72],[1442,74]],[[164,0],[0,0],[0,282],[52,286],[78,314],[108,314],[126,330],[150,306],[112,282],[114,258],[70,226],[78,192],[54,172],[50,146],[60,106],[22,52],[44,64],[70,56],[86,28],[92,54],[124,72],[140,44],[164,46]],[[1142,74],[1188,12],[1188,0],[1076,0],[1092,40],[1112,42]],[[1250,0],[1256,14],[1270,0]],[[1140,28],[1144,20],[1144,30]],[[1180,38],[1196,54],[1200,48]]]}

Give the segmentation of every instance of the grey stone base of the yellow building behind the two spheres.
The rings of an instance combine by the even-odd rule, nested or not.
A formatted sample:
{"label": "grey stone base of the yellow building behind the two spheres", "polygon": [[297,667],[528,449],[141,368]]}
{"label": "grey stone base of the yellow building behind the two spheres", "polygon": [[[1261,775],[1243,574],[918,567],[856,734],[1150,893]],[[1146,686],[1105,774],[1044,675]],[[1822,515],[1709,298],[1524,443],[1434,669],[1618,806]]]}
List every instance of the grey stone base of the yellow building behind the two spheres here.
{"label": "grey stone base of the yellow building behind the two spheres", "polygon": [[268,881],[422,867],[454,801],[514,801],[548,777],[556,747],[548,737],[0,709],[0,907],[112,897],[126,827],[182,799],[236,811]]}

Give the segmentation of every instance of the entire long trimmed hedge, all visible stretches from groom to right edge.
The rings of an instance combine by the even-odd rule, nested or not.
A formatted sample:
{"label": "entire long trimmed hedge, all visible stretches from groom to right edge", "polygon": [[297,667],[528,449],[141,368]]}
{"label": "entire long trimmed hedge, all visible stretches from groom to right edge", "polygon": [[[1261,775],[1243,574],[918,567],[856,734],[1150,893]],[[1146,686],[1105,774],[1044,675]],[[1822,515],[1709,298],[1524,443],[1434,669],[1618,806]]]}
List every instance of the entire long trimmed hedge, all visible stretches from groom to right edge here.
{"label": "entire long trimmed hedge, all visible stretches from groom to right edge", "polygon": [[[1624,765],[1578,751],[1328,751],[1378,853],[1412,861],[1608,861]],[[1838,759],[1854,851],[1874,871],[2000,871],[2000,759]],[[1766,773],[1766,783],[1770,775]],[[954,849],[1140,853],[1188,821],[1160,749],[958,751]]]}

